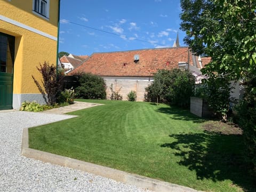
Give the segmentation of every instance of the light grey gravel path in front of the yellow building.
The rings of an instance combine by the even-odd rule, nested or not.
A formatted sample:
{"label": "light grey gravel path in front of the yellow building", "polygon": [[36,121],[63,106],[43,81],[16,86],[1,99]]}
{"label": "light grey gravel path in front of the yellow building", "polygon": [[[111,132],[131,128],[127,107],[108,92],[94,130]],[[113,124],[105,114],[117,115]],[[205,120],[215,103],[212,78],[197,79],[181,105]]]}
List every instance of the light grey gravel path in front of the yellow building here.
{"label": "light grey gravel path in front of the yellow building", "polygon": [[147,191],[20,155],[23,128],[71,117],[25,111],[0,112],[0,191]]}

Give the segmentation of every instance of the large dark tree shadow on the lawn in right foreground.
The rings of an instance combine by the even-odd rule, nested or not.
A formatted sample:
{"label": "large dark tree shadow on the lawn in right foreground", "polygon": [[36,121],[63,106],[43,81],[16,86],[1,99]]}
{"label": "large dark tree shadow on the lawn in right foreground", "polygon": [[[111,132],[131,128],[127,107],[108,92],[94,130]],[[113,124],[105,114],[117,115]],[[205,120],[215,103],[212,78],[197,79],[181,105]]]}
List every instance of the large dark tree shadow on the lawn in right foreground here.
{"label": "large dark tree shadow on the lawn in right foreground", "polygon": [[161,147],[177,150],[179,165],[196,171],[197,179],[212,181],[231,180],[244,191],[256,191],[254,179],[249,176],[249,165],[243,158],[242,135],[224,135],[216,132],[181,133],[169,135],[177,141]]}

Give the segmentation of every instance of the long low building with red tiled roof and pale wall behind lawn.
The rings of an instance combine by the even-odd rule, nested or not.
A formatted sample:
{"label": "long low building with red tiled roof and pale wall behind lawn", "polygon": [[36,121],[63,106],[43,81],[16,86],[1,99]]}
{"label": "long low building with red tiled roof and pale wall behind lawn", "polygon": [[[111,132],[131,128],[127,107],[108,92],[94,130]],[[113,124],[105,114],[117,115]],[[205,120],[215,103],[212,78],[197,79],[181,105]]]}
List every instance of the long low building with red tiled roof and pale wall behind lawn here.
{"label": "long low building with red tiled roof and pale wall behind lawn", "polygon": [[[176,44],[177,45],[177,44]],[[186,68],[201,81],[202,74],[198,57],[189,51],[188,47],[170,47],[161,49],[142,49],[107,53],[93,53],[77,68],[75,73],[92,73],[103,77],[109,87],[127,99],[130,91],[136,91],[137,101],[144,100],[145,87],[153,81],[158,69]]]}

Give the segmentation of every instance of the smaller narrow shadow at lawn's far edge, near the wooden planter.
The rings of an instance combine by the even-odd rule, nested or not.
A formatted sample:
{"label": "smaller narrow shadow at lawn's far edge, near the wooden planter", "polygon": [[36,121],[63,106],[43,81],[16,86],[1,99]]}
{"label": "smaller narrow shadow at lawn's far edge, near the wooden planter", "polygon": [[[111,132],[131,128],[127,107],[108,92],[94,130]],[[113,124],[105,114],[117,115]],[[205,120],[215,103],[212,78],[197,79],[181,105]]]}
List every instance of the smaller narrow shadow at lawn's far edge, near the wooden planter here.
{"label": "smaller narrow shadow at lawn's far edge, near the wooden planter", "polygon": [[194,123],[204,123],[205,121],[207,121],[206,118],[201,118],[194,114],[191,114],[190,111],[187,109],[173,106],[159,107],[156,109],[156,111],[171,115],[171,118],[176,120],[193,121]]}

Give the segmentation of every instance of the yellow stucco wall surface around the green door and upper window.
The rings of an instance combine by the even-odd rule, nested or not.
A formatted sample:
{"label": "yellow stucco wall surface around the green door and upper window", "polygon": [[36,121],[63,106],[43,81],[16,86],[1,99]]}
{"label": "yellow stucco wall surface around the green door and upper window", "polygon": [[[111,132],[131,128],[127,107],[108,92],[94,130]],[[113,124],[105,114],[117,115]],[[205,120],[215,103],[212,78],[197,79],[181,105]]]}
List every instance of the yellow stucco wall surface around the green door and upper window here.
{"label": "yellow stucco wall surface around the green door and upper window", "polygon": [[[50,0],[50,17],[44,19],[33,13],[33,0],[0,0],[0,15],[57,38],[58,2]],[[31,75],[40,82],[36,66],[44,61],[56,65],[57,41],[3,20],[0,32],[15,37],[13,94],[39,93]]]}

